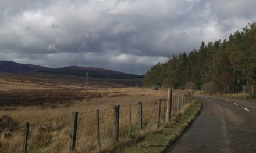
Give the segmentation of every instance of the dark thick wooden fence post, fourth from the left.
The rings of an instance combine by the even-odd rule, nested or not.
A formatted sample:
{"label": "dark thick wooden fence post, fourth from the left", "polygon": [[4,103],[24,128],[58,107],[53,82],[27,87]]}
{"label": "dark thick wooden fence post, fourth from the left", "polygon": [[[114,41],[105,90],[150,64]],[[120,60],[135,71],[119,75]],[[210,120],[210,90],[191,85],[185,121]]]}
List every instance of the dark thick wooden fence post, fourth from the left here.
{"label": "dark thick wooden fence post, fourth from the left", "polygon": [[113,128],[113,142],[118,142],[118,135],[119,135],[119,108],[120,105],[115,105],[114,107],[114,128]]}

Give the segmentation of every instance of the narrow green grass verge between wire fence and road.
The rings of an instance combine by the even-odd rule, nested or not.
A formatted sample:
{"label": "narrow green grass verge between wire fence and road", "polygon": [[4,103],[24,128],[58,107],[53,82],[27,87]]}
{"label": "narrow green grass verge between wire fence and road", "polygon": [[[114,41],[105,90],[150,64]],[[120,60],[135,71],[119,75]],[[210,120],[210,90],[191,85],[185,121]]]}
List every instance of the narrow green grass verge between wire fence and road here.
{"label": "narrow green grass verge between wire fence and road", "polygon": [[175,121],[165,125],[161,130],[142,134],[129,144],[120,144],[111,151],[103,152],[166,152],[170,145],[189,128],[200,111],[201,101],[196,99],[186,108],[184,114],[178,114]]}

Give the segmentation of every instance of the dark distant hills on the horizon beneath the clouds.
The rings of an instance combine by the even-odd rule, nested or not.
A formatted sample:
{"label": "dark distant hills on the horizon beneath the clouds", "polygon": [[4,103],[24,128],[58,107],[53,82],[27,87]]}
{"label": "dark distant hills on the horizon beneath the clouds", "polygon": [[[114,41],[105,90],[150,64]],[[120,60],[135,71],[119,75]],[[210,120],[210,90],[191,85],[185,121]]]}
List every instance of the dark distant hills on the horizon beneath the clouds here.
{"label": "dark distant hills on the horizon beneath the clouds", "polygon": [[63,74],[63,75],[86,75],[86,72],[88,72],[90,77],[95,77],[95,78],[118,78],[118,79],[143,78],[142,75],[126,74],[123,72],[106,70],[104,68],[97,68],[97,67],[69,66],[69,67],[62,67],[62,68],[49,68],[49,67],[41,67],[38,65],[31,65],[31,64],[20,64],[13,61],[0,61],[0,72],[7,72],[7,73],[45,72],[50,74]]}

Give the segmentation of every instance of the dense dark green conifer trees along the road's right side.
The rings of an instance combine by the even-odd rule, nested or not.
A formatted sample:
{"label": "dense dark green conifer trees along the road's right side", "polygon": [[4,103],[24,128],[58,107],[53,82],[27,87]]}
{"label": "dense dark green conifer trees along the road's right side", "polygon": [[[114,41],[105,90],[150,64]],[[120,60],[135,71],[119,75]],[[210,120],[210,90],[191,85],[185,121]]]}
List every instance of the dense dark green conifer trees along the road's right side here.
{"label": "dense dark green conifer trees along the road's right side", "polygon": [[228,41],[201,42],[198,50],[170,56],[145,74],[144,86],[236,92],[256,81],[256,23],[229,35]]}

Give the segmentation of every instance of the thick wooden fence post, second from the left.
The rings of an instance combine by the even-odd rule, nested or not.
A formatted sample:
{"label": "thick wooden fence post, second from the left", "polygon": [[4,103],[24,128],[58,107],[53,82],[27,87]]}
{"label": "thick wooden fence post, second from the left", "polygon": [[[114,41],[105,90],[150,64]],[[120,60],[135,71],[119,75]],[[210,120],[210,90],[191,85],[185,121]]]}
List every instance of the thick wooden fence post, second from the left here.
{"label": "thick wooden fence post, second from the left", "polygon": [[77,130],[78,112],[72,112],[69,125],[69,150],[72,151],[76,147],[76,130]]}

